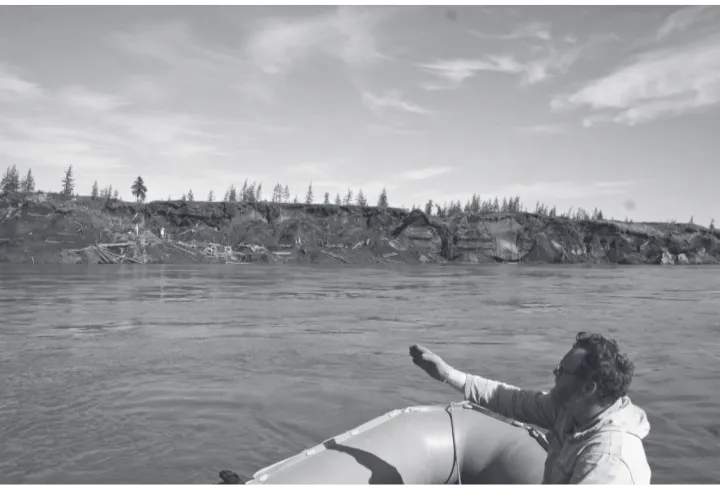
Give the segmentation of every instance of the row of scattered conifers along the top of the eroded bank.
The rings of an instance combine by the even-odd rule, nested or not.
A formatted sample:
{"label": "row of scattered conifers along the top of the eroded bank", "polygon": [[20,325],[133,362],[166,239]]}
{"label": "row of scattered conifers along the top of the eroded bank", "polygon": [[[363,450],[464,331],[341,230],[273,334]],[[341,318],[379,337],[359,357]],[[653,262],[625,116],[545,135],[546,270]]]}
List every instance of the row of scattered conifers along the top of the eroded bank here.
{"label": "row of scattered conifers along the top of the eroded bank", "polygon": [[[77,194],[74,193],[75,177],[73,175],[72,165],[70,165],[65,171],[65,175],[60,182],[60,194],[63,194],[65,196],[73,196],[75,194],[77,196]],[[130,190],[133,197],[135,197],[136,202],[144,202],[146,200],[148,188],[141,176],[138,176],[135,181],[133,181],[133,184],[130,186]],[[21,178],[15,165],[13,165],[12,167],[8,167],[2,176],[2,180],[0,180],[0,192],[35,192],[35,178],[33,177],[32,170],[28,169],[27,174]],[[112,185],[108,185],[103,189],[100,189],[97,180],[93,182],[93,187],[90,191],[90,197],[91,199],[120,199],[117,188],[114,189]],[[168,197],[168,200],[170,200],[170,197]],[[195,201],[193,190],[190,189],[187,193],[183,194],[181,196],[181,200]],[[223,196],[223,201],[225,202],[255,203],[264,200],[265,199],[263,199],[262,183],[256,183],[256,181],[249,183],[248,180],[245,180],[243,182],[243,185],[238,189],[234,184],[231,184],[230,187],[226,190],[225,195]],[[206,201],[215,201],[215,195],[213,190],[208,193]],[[313,192],[313,182],[310,182],[308,184],[306,197],[303,202],[305,204],[314,204],[314,201],[315,197]],[[270,202],[298,204],[299,200],[298,196],[294,196],[293,200],[291,200],[291,192],[288,189],[288,185],[284,186],[280,183],[277,183],[273,187]],[[367,207],[369,205],[368,200],[366,199],[366,196],[361,189],[359,189],[356,194],[354,194],[351,189],[348,189],[348,191],[346,192],[346,194],[343,195],[343,197],[340,193],[336,193],[336,197],[333,199],[333,202],[331,202],[330,193],[325,192],[323,195],[323,204],[334,204],[336,206],[355,205],[360,207]],[[389,207],[389,198],[388,193],[386,192],[386,188],[383,188],[381,190],[381,193],[379,194],[376,201],[376,207]],[[413,209],[421,210],[421,207],[417,208],[416,205],[414,205],[412,207],[412,210]],[[482,201],[481,196],[479,196],[478,194],[473,194],[471,196],[471,199],[468,199],[463,206],[461,204],[461,201],[459,200],[439,203],[429,199],[424,205],[423,211],[428,216],[437,216],[442,218],[451,217],[456,214],[529,212],[543,217],[559,217],[576,221],[604,220],[604,214],[602,213],[602,210],[598,208],[594,208],[591,213],[582,208],[569,208],[567,211],[559,212],[557,211],[556,206],[549,207],[546,204],[537,201],[534,210],[529,211],[527,207],[521,202],[521,198],[519,196],[504,197],[501,200],[499,200],[498,197],[495,197],[493,199],[490,198]],[[694,217],[690,218],[689,224],[694,224]],[[712,230],[715,229],[714,219],[710,222],[709,228]]]}

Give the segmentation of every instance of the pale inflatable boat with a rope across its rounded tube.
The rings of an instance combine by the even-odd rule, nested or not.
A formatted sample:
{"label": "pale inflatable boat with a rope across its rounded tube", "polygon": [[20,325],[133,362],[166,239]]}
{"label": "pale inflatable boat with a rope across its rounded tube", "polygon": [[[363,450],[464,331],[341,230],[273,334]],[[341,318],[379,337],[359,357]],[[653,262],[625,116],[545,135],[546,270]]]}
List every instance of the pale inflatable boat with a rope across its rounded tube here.
{"label": "pale inflatable boat with a rope across its rounded tube", "polygon": [[540,484],[538,430],[469,402],[393,410],[246,484]]}

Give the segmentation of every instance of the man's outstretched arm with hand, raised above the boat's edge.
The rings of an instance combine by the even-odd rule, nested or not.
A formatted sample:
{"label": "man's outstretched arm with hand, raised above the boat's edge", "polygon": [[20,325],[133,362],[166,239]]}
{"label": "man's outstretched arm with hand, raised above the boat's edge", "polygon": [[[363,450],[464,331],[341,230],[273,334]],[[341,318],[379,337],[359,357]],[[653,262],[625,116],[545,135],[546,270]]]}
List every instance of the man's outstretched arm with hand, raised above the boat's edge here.
{"label": "man's outstretched arm with hand, raised above the boat's edge", "polygon": [[464,398],[513,420],[553,429],[558,407],[547,393],[522,390],[494,380],[463,373],[428,349],[414,345],[409,354],[414,364],[432,378],[464,393]]}

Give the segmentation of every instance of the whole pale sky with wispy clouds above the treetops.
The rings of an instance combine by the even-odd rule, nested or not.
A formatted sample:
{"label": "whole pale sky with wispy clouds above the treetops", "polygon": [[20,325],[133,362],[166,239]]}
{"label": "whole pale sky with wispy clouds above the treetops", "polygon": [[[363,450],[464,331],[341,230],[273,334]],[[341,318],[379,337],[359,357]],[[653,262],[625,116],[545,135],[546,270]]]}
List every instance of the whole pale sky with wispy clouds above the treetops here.
{"label": "whole pale sky with wispy clouds above the treetops", "polygon": [[720,219],[719,6],[0,7],[0,170]]}

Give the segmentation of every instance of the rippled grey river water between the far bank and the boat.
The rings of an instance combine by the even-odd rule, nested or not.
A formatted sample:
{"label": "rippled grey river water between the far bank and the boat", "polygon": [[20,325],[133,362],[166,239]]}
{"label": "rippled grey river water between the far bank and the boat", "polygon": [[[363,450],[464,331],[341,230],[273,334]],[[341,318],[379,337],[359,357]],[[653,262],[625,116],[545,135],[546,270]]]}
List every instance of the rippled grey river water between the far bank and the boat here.
{"label": "rippled grey river water between the far bank and the boat", "polygon": [[720,481],[719,267],[0,266],[0,481],[210,483],[462,399],[548,389],[580,330],[637,365],[655,483]]}

